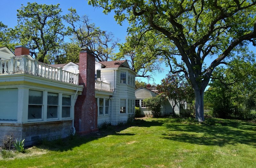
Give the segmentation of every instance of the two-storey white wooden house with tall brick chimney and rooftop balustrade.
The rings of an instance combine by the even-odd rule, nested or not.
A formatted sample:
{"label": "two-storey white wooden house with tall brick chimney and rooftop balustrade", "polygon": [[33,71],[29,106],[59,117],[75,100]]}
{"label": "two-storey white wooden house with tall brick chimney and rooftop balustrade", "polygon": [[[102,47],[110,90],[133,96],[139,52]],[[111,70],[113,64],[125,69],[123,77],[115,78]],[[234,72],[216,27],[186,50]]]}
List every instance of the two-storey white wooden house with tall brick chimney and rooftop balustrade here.
{"label": "two-storey white wooden house with tall brick chimney and rooftop balustrade", "polygon": [[125,122],[134,113],[135,75],[126,61],[95,62],[87,49],[79,63],[47,65],[27,47],[15,54],[0,47],[0,137],[25,138],[28,146]]}

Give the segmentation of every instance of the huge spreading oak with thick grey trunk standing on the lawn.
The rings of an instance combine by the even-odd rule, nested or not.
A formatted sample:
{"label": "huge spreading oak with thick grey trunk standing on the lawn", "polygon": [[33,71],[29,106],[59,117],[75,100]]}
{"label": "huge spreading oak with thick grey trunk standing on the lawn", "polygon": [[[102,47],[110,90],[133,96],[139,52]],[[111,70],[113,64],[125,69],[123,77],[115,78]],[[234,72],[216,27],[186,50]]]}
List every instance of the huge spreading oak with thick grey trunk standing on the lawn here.
{"label": "huge spreading oak with thick grey trunk standing on the lawn", "polygon": [[[242,0],[89,0],[89,4],[115,11],[130,32],[156,31],[174,44],[180,55],[169,55],[172,73],[183,72],[196,98],[196,119],[204,121],[204,90],[215,67],[234,49],[249,41],[255,45],[256,1]],[[165,41],[165,40],[163,40]],[[164,43],[163,43],[164,45]],[[212,62],[205,64],[206,58]],[[181,61],[179,61],[181,60]]]}

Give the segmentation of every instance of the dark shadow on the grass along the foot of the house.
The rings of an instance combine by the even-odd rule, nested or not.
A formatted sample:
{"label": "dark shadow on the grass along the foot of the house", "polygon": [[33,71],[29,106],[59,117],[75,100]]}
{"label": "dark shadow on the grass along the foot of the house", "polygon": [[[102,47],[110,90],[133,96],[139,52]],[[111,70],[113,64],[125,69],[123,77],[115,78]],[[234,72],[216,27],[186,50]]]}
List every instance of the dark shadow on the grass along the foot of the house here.
{"label": "dark shadow on the grass along the foot of the house", "polygon": [[[135,120],[133,122],[128,122],[125,124],[119,124],[116,126],[108,126],[106,128],[102,128],[98,133],[90,133],[88,135],[79,136],[79,135],[71,135],[65,139],[56,139],[53,141],[44,140],[37,147],[47,150],[54,151],[68,151],[72,150],[75,147],[83,145],[85,143],[106,137],[108,135],[118,135],[118,136],[133,136],[136,134],[131,133],[122,133],[121,131],[129,128],[129,127],[152,127],[152,126],[161,126],[163,122],[159,121],[145,121],[145,120]],[[122,137],[120,137],[122,138]]]}

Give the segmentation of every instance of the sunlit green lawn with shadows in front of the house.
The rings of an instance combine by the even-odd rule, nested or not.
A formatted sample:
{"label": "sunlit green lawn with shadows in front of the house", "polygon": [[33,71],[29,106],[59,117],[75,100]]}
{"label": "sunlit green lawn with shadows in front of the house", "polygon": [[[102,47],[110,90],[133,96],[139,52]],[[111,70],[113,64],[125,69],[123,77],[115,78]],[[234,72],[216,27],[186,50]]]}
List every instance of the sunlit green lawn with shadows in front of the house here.
{"label": "sunlit green lawn with shadows in front of the house", "polygon": [[48,149],[1,159],[0,167],[255,167],[256,124],[210,120],[148,118],[100,135],[48,142]]}

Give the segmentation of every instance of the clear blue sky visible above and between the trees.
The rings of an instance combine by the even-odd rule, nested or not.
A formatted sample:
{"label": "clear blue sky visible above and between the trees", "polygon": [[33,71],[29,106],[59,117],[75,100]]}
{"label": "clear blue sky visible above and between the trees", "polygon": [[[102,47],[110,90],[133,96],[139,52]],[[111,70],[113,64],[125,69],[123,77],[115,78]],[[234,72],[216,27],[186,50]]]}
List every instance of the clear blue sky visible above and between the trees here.
{"label": "clear blue sky visible above and between the trees", "polygon": [[[0,21],[2,21],[8,27],[14,27],[17,25],[17,9],[21,7],[21,4],[27,5],[27,2],[37,2],[38,4],[60,4],[63,14],[68,13],[68,8],[73,7],[76,9],[79,16],[88,15],[92,23],[100,27],[101,30],[114,33],[115,37],[120,39],[120,42],[125,42],[125,36],[127,35],[126,29],[128,23],[124,22],[122,26],[118,25],[114,19],[114,13],[105,15],[102,13],[101,8],[94,8],[87,4],[86,0],[1,0],[1,10],[0,10]],[[250,48],[256,53],[256,47]],[[209,62],[212,61],[209,59]],[[161,73],[155,72],[153,79],[148,80],[147,78],[136,78],[140,79],[146,83],[156,83],[160,84],[161,80],[168,73],[169,68],[165,67],[165,64],[161,64],[164,69]]]}

